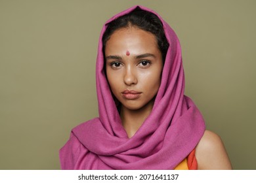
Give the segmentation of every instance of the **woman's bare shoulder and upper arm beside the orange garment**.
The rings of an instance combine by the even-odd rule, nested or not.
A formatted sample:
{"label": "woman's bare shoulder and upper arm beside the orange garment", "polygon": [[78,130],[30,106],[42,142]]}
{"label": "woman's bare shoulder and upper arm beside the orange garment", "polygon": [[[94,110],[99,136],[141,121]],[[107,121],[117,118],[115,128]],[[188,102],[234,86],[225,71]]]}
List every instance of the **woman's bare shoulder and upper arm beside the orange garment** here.
{"label": "woman's bare shoulder and upper arm beside the orange garment", "polygon": [[221,137],[209,130],[205,130],[196,146],[196,160],[198,169],[232,169]]}

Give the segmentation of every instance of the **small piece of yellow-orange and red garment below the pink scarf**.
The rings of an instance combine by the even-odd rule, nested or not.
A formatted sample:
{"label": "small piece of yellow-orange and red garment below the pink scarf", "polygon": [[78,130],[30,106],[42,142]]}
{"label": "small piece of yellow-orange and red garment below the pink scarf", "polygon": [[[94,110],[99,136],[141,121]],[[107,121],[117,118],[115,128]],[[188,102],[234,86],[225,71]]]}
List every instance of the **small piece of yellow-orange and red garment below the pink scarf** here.
{"label": "small piece of yellow-orange and red garment below the pink scarf", "polygon": [[196,161],[195,152],[196,149],[192,150],[192,152],[188,154],[188,157],[181,161],[177,167],[175,167],[175,170],[197,170],[198,162]]}

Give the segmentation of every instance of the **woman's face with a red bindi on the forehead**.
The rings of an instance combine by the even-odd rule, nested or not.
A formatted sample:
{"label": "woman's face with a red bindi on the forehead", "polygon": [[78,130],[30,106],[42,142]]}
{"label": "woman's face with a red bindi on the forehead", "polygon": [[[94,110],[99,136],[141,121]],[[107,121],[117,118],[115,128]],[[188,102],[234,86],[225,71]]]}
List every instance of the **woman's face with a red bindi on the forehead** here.
{"label": "woman's face with a red bindi on the forehead", "polygon": [[137,27],[118,29],[106,42],[105,56],[110,88],[123,107],[153,106],[163,68],[156,37]]}

